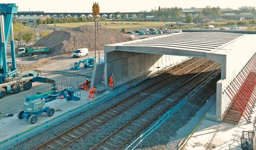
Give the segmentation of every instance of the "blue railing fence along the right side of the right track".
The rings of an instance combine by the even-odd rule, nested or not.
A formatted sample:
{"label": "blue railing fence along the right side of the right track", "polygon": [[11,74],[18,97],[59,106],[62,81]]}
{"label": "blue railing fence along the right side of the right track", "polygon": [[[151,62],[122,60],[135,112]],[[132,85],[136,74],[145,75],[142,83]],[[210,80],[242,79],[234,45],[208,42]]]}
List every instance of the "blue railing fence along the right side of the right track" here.
{"label": "blue railing fence along the right side of the right track", "polygon": [[[196,92],[198,92],[201,88],[205,87],[209,82],[215,79],[218,75],[220,75],[221,70],[218,69],[215,72],[208,75],[208,77],[202,81],[196,88],[194,88],[188,96],[183,98],[178,104],[175,105],[170,111],[166,112],[154,125],[152,125],[146,132],[141,134],[137,139],[135,139],[125,150],[136,148],[148,135],[150,135],[154,130],[156,130],[159,126],[161,126],[174,112],[179,110],[184,104],[189,101],[189,98],[194,96]],[[154,133],[154,132],[153,132]]]}

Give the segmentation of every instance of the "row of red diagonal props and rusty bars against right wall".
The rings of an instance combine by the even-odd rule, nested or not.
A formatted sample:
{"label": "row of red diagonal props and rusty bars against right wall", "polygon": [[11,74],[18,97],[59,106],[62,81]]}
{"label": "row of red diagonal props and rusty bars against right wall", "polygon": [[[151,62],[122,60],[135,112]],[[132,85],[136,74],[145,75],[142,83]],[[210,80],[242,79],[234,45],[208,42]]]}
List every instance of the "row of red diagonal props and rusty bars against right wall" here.
{"label": "row of red diagonal props and rusty bars against right wall", "polygon": [[256,97],[254,96],[256,95],[256,91],[254,90],[256,85],[255,66],[256,53],[224,90],[224,93],[231,100],[230,103],[232,103],[232,105],[229,108],[231,111],[227,111],[223,121],[238,124],[240,118],[243,116],[247,122],[250,122],[250,113],[256,101]]}

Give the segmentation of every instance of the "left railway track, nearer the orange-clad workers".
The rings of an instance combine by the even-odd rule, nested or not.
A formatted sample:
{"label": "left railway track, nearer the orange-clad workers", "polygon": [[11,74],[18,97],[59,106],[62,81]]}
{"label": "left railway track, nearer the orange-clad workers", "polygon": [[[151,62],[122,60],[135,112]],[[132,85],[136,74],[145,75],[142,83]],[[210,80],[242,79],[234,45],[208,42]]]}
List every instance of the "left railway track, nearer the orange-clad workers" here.
{"label": "left railway track, nearer the orange-clad workers", "polygon": [[167,77],[161,79],[160,81],[157,82],[157,84],[153,83],[149,85],[145,89],[142,89],[139,92],[133,94],[132,96],[129,96],[126,99],[122,100],[121,102],[107,108],[104,111],[101,111],[100,113],[72,127],[66,132],[63,132],[60,135],[54,137],[53,139],[36,147],[35,149],[40,149],[40,150],[62,149],[68,146],[69,144],[73,143],[76,139],[79,139],[80,137],[84,136],[86,133],[92,131],[99,125],[102,125],[103,123],[107,122],[109,119],[127,110],[134,104],[137,104],[143,98],[150,96],[151,94],[156,92],[158,89],[163,88],[165,85],[173,82],[174,80],[178,79],[180,76],[191,72],[193,69],[198,68],[199,66],[203,65],[208,61],[209,60],[205,58],[201,58],[201,59],[196,58],[196,59],[189,60],[189,62],[187,63],[184,63],[188,65],[183,64],[183,66],[185,66],[183,68],[173,68],[172,70],[170,70],[171,75],[168,75]]}

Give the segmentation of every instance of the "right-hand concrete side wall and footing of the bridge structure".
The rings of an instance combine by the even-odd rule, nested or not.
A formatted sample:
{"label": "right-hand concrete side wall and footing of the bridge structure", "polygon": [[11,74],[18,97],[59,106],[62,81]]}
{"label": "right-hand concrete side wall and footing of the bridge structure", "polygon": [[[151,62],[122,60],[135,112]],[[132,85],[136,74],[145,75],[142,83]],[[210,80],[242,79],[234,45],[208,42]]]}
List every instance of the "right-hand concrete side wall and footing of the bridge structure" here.
{"label": "right-hand concrete side wall and footing of the bridge structure", "polygon": [[[228,86],[230,87],[230,83],[233,82],[242,68],[255,54],[256,49],[250,47],[250,41],[251,40],[238,39],[236,41],[237,46],[232,47],[232,52],[228,55],[212,53],[206,54],[206,58],[221,63],[221,79],[217,82],[216,105],[214,105],[212,109],[206,113],[207,119],[221,122],[226,115],[229,106],[231,106],[232,101],[227,96],[225,91],[227,90]],[[238,84],[236,88],[240,89],[240,86],[241,84]],[[236,90],[232,88],[231,90],[236,94]]]}

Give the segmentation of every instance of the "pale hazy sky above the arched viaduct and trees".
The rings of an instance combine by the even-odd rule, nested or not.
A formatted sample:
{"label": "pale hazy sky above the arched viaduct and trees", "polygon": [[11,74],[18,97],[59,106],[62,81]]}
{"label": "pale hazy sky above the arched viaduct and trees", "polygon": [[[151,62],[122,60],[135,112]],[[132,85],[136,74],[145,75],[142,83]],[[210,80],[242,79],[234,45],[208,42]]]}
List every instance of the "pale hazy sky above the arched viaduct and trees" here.
{"label": "pale hazy sky above the arched viaduct and trees", "polygon": [[[16,3],[18,11],[44,12],[91,12],[91,0],[1,0],[0,3]],[[256,0],[98,0],[100,12],[137,12],[150,11],[161,7],[204,8],[220,6],[220,8],[237,9],[241,6],[256,6]]]}

